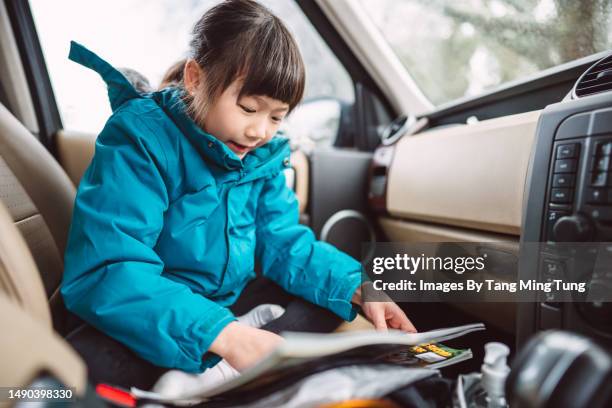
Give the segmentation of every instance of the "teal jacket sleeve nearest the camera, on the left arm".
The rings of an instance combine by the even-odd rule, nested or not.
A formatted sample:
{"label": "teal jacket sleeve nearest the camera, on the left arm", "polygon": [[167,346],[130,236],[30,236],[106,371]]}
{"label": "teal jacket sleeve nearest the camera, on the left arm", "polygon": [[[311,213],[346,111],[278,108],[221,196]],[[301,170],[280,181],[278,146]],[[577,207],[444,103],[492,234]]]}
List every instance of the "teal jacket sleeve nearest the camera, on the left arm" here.
{"label": "teal jacket sleeve nearest the camera, on the left arm", "polygon": [[[168,207],[165,156],[132,113],[116,113],[80,183],[65,254],[69,310],[163,367],[202,372],[232,313],[162,275],[154,250]],[[146,134],[143,134],[146,133]]]}

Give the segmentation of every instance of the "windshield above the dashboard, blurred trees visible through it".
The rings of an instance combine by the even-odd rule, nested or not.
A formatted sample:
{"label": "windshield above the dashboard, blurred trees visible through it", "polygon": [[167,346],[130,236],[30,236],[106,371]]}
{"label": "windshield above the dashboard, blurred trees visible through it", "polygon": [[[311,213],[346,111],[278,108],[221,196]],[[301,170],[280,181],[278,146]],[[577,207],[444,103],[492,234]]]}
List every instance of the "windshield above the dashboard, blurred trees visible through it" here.
{"label": "windshield above the dashboard, blurred trees visible through it", "polygon": [[609,0],[358,0],[434,105],[612,46]]}

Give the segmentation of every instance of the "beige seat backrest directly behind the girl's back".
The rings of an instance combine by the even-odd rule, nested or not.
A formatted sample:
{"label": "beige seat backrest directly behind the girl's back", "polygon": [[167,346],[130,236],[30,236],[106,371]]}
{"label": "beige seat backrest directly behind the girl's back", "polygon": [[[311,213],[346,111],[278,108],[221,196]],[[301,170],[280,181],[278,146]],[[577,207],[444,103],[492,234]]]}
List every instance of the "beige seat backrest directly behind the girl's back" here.
{"label": "beige seat backrest directly behind the girl's back", "polygon": [[54,326],[63,334],[65,309],[59,285],[75,194],[53,156],[0,104],[0,201],[25,238],[40,271]]}

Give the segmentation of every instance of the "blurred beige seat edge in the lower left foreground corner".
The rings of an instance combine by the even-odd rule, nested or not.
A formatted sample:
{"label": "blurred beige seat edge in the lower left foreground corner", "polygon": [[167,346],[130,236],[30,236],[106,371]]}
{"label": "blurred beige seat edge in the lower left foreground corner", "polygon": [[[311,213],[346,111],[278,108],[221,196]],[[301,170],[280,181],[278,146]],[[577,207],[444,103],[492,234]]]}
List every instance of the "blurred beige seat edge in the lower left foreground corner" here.
{"label": "blurred beige seat edge in the lower left foreground corner", "polygon": [[[51,327],[47,296],[32,255],[0,204],[0,384],[25,387],[51,374],[83,395],[86,367]],[[0,406],[9,406],[0,401]]]}

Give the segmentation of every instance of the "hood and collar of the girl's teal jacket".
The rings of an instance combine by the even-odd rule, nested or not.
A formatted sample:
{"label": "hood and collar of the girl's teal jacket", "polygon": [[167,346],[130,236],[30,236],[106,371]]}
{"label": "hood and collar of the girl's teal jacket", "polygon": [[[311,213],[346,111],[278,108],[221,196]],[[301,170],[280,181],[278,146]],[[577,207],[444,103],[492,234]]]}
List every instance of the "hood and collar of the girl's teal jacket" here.
{"label": "hood and collar of the girl's teal jacket", "polygon": [[251,152],[242,160],[223,142],[206,133],[191,119],[183,101],[183,90],[170,87],[157,92],[140,93],[116,68],[83,45],[71,41],[68,58],[97,72],[108,88],[108,98],[113,112],[133,99],[154,100],[177,125],[180,131],[196,146],[208,161],[226,170],[237,170],[245,175],[242,182],[276,174],[289,167],[289,141],[275,136]]}

